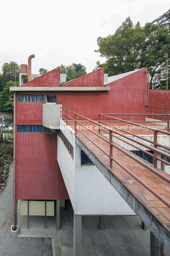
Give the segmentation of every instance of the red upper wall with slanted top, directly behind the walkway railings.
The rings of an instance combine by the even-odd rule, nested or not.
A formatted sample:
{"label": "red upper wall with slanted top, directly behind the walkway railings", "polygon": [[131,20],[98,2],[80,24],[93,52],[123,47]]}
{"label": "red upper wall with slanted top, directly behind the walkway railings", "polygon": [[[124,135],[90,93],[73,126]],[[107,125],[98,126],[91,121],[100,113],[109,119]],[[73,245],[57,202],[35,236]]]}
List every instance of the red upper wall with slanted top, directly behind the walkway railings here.
{"label": "red upper wall with slanted top, directly behind the walkway railings", "polygon": [[112,82],[107,85],[110,91],[57,92],[57,103],[93,120],[98,120],[99,113],[146,113],[146,71],[147,68]]}

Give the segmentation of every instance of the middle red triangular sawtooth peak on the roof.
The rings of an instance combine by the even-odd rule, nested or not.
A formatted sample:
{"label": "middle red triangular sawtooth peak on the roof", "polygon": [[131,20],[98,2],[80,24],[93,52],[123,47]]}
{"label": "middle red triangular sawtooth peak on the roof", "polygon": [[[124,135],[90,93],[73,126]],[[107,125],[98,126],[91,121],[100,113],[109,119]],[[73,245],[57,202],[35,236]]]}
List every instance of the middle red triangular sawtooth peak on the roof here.
{"label": "middle red triangular sawtooth peak on the roof", "polygon": [[87,75],[71,80],[62,85],[63,87],[78,86],[104,86],[104,68],[97,69]]}

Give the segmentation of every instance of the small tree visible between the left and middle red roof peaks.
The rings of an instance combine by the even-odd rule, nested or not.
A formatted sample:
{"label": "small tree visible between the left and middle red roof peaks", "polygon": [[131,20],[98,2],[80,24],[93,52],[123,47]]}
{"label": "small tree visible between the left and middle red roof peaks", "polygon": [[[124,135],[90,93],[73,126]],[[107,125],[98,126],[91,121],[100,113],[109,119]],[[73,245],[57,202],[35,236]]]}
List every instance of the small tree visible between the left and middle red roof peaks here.
{"label": "small tree visible between the left and middle red roof peaks", "polygon": [[87,74],[86,67],[81,65],[80,63],[79,64],[73,63],[70,66],[65,66],[61,64],[60,73],[67,75],[67,80],[66,80],[67,82]]}

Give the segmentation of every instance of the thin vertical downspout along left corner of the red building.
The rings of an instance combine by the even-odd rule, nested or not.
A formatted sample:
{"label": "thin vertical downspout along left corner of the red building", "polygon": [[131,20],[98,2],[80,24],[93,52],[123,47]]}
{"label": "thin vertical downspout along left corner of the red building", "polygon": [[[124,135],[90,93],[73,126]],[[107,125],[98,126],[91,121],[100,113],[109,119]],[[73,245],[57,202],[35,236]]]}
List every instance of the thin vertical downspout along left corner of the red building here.
{"label": "thin vertical downspout along left corner of the red building", "polygon": [[14,91],[14,115],[13,115],[13,207],[14,207],[14,230],[16,230],[16,188],[15,188],[15,110],[16,110],[16,92]]}

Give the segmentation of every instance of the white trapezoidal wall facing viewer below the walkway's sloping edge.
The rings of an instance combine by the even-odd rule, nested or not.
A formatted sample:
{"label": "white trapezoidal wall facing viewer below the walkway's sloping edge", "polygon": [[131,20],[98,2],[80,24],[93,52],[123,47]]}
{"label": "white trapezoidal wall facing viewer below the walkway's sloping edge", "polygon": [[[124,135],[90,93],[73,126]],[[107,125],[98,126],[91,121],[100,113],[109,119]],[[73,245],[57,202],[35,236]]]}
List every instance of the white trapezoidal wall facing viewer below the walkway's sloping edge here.
{"label": "white trapezoidal wall facing viewer below the walkway's sloping edge", "polygon": [[76,214],[135,215],[96,166],[81,166],[80,150],[76,144]]}

